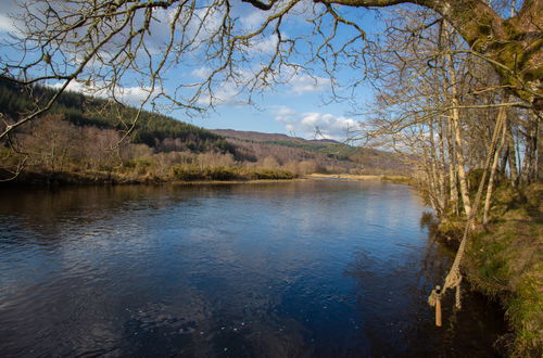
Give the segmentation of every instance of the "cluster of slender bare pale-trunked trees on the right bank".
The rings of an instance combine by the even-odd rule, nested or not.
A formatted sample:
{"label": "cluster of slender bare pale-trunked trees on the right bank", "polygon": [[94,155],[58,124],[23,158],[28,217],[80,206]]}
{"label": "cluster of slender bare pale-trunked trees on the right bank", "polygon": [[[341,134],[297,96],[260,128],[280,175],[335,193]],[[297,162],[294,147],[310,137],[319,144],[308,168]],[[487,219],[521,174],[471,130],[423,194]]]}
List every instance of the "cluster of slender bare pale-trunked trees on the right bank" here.
{"label": "cluster of slender bare pale-trunked trees on the right bank", "polygon": [[[368,50],[378,95],[361,138],[417,158],[419,187],[441,218],[454,217],[460,208],[468,217],[478,172],[490,170],[483,215],[488,222],[494,182],[507,175],[517,181],[517,152],[523,157],[521,181],[538,177],[533,107],[506,95],[489,63],[459,51],[463,40],[434,14],[400,11],[387,18],[387,28]],[[512,169],[506,172],[503,165],[497,172],[508,137],[513,150],[504,161]],[[496,151],[490,154],[495,138]]]}

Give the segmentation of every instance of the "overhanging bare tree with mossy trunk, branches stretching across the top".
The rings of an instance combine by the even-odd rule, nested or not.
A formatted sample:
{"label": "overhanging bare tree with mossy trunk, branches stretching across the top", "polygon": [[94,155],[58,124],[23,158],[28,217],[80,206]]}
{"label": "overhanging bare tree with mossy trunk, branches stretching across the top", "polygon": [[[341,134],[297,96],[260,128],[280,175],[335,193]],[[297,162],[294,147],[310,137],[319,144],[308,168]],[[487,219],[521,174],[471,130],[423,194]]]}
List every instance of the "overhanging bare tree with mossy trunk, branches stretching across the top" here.
{"label": "overhanging bare tree with mossy trunk, branches stretching across the top", "polygon": [[[46,112],[74,81],[112,99],[138,82],[142,105],[167,100],[188,111],[213,104],[226,81],[251,93],[302,71],[312,74],[315,64],[323,65],[333,87],[338,67],[358,68],[368,61],[361,12],[345,9],[404,3],[432,9],[450,22],[467,43],[456,51],[488,61],[502,87],[541,111],[542,0],[523,1],[509,18],[480,0],[27,0],[10,44],[20,56],[0,59],[3,76],[26,86],[60,85],[56,95],[5,123],[0,139]],[[247,7],[262,11],[252,26],[241,21]],[[285,34],[294,16],[311,24],[304,36]],[[272,49],[258,51],[262,41],[270,41]],[[205,64],[201,78],[166,89],[168,73],[190,63]]]}

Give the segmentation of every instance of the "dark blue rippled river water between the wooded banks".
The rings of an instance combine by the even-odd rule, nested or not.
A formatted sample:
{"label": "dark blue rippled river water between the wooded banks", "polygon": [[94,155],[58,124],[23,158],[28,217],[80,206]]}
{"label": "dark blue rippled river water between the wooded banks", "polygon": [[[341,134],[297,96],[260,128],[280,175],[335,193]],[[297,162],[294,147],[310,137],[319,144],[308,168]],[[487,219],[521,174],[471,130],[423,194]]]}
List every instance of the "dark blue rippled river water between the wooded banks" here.
{"label": "dark blue rippled river water between the wooded banks", "polygon": [[0,356],[492,357],[493,304],[433,325],[450,257],[404,186],[2,191]]}

